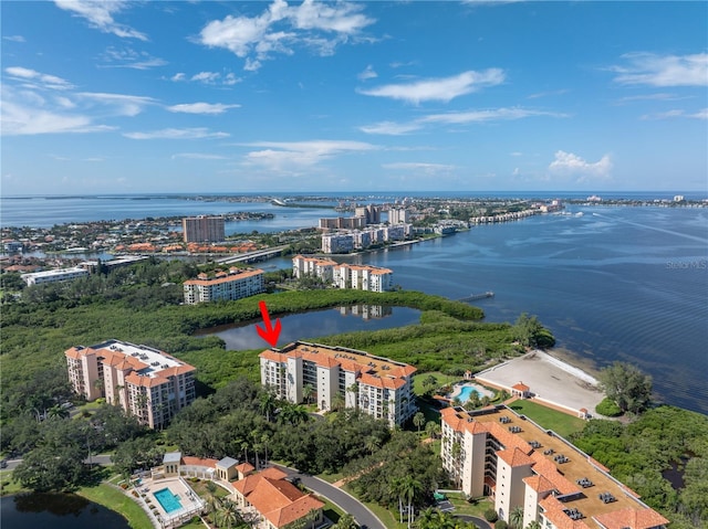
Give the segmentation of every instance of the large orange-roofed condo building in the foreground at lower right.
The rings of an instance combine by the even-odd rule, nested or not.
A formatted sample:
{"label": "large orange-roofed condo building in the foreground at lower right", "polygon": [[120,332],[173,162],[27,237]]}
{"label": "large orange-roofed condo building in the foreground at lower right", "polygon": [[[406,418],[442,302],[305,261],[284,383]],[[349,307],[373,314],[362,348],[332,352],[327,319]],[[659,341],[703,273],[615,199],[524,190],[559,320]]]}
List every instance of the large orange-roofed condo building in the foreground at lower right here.
{"label": "large orange-roofed condo building in the foreground at lower right", "polygon": [[446,408],[442,466],[471,497],[489,496],[500,519],[521,507],[544,529],[660,529],[668,520],[552,431],[499,405]]}

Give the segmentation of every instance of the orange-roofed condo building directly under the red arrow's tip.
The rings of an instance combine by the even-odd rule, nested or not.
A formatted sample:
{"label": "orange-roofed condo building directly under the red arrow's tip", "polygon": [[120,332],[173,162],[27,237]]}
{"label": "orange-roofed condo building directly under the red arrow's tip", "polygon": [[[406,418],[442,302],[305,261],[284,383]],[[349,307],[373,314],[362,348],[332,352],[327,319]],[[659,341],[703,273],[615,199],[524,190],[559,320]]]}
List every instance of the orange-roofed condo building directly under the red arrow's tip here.
{"label": "orange-roofed condo building directly under the red arrow's tip", "polygon": [[[413,393],[416,368],[343,347],[295,341],[260,353],[261,383],[278,399],[300,403],[311,398],[322,411],[341,401],[394,427],[417,408]],[[309,394],[312,393],[312,394]]]}

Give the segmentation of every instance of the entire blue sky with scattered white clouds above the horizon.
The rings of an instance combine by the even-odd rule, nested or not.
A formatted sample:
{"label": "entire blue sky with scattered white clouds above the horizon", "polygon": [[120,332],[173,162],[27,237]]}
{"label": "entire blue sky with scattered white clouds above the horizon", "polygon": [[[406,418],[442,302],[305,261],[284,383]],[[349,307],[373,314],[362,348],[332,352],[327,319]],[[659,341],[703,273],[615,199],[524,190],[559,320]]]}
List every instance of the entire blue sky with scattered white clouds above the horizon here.
{"label": "entire blue sky with scattered white clouds above the horizon", "polygon": [[708,192],[707,2],[0,9],[6,195]]}

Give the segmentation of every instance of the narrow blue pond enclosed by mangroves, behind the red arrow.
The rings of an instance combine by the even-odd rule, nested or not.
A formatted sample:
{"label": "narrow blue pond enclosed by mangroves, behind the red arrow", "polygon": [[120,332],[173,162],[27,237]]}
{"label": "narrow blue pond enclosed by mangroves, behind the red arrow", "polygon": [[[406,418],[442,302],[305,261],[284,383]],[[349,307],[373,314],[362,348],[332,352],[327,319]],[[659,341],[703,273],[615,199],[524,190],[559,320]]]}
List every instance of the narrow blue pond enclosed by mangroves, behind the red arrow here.
{"label": "narrow blue pond enclosed by mangroves, behind the red arrow", "polygon": [[[339,335],[342,332],[402,327],[417,324],[419,320],[420,310],[381,305],[353,305],[293,314],[280,318],[282,330],[278,345],[283,346],[295,340],[315,340],[317,337]],[[212,327],[210,329],[202,329],[197,335],[218,336],[226,342],[228,350],[267,347],[263,339],[256,331],[256,324],[262,325],[262,321],[254,320]]]}

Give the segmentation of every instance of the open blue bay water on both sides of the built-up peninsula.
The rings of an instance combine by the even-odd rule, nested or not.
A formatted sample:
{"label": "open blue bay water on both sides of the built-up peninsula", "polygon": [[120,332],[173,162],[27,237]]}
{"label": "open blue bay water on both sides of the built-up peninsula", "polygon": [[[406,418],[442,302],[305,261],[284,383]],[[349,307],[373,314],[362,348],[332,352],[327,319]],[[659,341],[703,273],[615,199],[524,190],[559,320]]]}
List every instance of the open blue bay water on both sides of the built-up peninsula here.
{"label": "open blue bay water on both sides of the built-up peninsula", "polygon": [[[13,205],[4,211],[9,202]],[[266,232],[311,228],[317,218],[337,214],[316,208],[155,197],[122,200],[111,210],[103,199],[65,198],[60,201],[62,212],[56,212],[60,218],[49,222],[52,212],[46,202],[53,201],[2,199],[3,225],[31,225],[13,220],[32,219],[39,219],[37,225],[52,225],[273,212],[271,224],[257,224]],[[335,260],[388,267],[403,288],[452,299],[492,290],[493,298],[473,301],[488,321],[537,315],[556,337],[556,352],[573,363],[595,369],[614,360],[636,363],[652,374],[662,401],[708,414],[708,209],[574,205],[565,213],[475,226],[442,239]],[[290,267],[291,261],[263,265]],[[306,329],[302,332],[314,336]]]}

